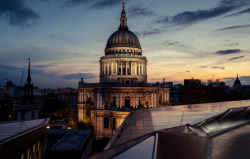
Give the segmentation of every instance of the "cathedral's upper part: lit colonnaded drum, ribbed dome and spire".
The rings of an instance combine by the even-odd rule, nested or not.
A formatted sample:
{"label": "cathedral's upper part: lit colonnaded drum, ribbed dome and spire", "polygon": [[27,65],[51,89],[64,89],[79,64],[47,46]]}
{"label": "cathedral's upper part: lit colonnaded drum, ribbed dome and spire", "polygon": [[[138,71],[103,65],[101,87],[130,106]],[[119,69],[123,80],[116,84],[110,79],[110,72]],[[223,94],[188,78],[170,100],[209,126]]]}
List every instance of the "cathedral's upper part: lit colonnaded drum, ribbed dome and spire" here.
{"label": "cathedral's upper part: lit colonnaded drum, ribbed dome and spire", "polygon": [[100,83],[147,83],[147,59],[139,39],[128,29],[124,3],[120,26],[109,37],[100,59]]}

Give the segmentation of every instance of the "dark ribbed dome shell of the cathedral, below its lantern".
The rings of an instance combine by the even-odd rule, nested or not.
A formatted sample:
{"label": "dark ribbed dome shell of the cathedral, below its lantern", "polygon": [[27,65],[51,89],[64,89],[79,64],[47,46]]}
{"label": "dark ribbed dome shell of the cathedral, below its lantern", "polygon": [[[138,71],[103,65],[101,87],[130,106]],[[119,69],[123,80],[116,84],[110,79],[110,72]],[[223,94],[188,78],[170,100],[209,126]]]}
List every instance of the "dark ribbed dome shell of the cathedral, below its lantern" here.
{"label": "dark ribbed dome shell of the cathedral, below its lantern", "polygon": [[130,47],[141,49],[137,36],[128,29],[120,29],[114,32],[108,39],[106,49],[114,47]]}

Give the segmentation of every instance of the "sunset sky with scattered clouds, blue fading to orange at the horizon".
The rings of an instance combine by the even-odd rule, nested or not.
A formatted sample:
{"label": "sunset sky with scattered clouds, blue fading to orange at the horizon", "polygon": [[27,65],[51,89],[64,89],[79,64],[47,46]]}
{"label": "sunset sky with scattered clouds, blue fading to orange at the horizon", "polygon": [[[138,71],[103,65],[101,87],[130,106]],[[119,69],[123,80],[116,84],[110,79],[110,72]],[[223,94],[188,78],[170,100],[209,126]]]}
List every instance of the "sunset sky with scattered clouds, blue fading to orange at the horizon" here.
{"label": "sunset sky with scattered clouds, blue fading to orange at the horizon", "polygon": [[[99,82],[99,59],[122,0],[0,0],[0,80],[39,88]],[[148,82],[213,78],[250,85],[250,0],[125,0]]]}

